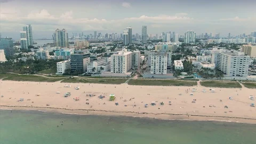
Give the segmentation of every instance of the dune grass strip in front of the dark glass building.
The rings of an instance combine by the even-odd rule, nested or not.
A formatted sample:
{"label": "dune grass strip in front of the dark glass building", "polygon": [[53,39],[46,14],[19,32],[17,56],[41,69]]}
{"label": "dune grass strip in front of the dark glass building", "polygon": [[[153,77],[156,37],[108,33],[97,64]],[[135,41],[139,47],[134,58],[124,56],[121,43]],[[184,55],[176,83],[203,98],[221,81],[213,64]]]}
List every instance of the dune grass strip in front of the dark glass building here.
{"label": "dune grass strip in front of the dark glass building", "polygon": [[61,83],[99,83],[99,84],[122,84],[125,83],[127,79],[125,78],[116,78],[116,79],[89,79],[89,78],[68,78],[61,81]]}

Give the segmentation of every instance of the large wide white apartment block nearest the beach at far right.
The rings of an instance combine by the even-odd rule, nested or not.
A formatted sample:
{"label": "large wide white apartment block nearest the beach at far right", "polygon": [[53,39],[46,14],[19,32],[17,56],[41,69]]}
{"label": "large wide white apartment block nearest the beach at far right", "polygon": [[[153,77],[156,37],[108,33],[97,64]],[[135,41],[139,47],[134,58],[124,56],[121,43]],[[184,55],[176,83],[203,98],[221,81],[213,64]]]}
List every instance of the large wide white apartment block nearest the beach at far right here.
{"label": "large wide white apartment block nearest the beach at far right", "polygon": [[212,53],[212,63],[225,75],[247,77],[250,57],[243,52],[221,50]]}

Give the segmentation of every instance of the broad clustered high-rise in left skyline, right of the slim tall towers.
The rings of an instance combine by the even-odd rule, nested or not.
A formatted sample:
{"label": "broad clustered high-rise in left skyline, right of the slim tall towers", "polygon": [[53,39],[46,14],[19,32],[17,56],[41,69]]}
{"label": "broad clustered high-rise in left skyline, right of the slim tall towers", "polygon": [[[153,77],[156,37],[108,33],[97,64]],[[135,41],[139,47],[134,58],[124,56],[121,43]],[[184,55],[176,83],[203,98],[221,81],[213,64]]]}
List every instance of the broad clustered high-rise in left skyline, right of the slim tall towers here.
{"label": "broad clustered high-rise in left skyline, right of the slim tall towers", "polygon": [[53,34],[53,41],[55,46],[68,47],[68,33],[66,29],[56,29]]}

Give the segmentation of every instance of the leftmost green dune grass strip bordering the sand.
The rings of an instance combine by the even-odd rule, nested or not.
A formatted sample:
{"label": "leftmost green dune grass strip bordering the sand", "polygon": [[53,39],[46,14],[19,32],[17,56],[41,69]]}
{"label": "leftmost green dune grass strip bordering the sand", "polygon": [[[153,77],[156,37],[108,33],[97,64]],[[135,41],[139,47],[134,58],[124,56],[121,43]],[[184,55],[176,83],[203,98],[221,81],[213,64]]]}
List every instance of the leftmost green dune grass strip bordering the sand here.
{"label": "leftmost green dune grass strip bordering the sand", "polygon": [[35,75],[10,75],[3,79],[3,81],[32,81],[32,82],[57,82],[64,78],[47,78]]}

